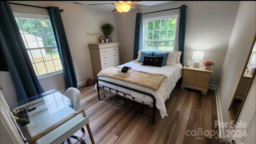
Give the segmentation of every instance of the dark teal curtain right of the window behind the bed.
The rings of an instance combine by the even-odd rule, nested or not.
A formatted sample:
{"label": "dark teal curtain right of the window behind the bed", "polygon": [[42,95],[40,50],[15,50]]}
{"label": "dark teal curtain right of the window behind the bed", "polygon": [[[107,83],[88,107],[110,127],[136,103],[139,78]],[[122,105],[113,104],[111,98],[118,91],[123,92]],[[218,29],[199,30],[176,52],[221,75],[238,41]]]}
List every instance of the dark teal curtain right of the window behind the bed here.
{"label": "dark teal curtain right of the window behind the bed", "polygon": [[184,45],[186,31],[186,5],[180,6],[179,51],[182,51],[180,63],[184,65]]}

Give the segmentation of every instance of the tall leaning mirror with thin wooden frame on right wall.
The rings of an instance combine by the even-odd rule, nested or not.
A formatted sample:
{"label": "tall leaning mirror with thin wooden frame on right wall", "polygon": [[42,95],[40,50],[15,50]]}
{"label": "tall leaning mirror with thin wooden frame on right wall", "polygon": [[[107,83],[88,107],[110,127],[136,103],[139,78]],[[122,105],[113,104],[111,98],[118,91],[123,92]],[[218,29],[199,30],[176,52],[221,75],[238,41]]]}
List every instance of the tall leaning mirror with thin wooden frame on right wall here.
{"label": "tall leaning mirror with thin wooden frame on right wall", "polygon": [[255,77],[255,72],[256,72],[256,70],[254,70],[256,65],[255,38],[256,38],[256,35],[254,36],[254,41],[252,43],[250,53],[244,65],[243,73],[240,77],[238,86],[236,88],[236,92],[234,94],[234,97],[228,109],[230,120],[233,120],[234,122],[236,122],[238,119],[238,116],[242,110],[248,91],[250,90],[250,87],[252,85],[252,81]]}

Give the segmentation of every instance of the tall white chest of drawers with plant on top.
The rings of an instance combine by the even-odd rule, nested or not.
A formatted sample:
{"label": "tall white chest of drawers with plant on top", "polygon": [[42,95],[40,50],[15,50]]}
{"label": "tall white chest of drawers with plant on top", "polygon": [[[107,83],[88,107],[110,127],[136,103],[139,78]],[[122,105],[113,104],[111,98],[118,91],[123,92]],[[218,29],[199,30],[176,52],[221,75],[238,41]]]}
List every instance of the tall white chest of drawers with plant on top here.
{"label": "tall white chest of drawers with plant on top", "polygon": [[119,42],[90,43],[94,78],[102,70],[119,65]]}

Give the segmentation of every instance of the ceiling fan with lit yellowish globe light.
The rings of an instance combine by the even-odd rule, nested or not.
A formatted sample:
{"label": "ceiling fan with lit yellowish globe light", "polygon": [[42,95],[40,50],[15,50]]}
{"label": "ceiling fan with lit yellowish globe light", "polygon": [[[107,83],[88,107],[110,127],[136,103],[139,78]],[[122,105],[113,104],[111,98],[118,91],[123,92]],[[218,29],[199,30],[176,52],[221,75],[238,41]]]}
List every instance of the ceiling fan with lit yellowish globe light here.
{"label": "ceiling fan with lit yellowish globe light", "polygon": [[[140,2],[140,1],[116,1],[116,3],[105,3],[105,4],[114,4],[116,5],[116,8],[112,10],[112,12],[121,12],[125,13],[128,12],[132,7],[134,8],[141,8],[141,9],[146,9],[148,6],[142,5],[142,4],[135,4],[134,2]],[[87,4],[89,5],[99,5],[99,4]]]}

